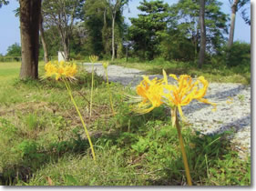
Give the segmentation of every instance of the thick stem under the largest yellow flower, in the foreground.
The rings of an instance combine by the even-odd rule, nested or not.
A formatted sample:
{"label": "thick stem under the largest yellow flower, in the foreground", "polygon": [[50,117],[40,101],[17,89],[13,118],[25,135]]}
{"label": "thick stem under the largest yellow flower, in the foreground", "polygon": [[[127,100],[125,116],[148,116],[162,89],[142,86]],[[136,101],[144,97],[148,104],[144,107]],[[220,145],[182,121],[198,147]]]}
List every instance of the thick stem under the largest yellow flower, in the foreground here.
{"label": "thick stem under the largest yellow flower, in the foreground", "polygon": [[189,173],[189,164],[188,164],[188,159],[187,159],[187,155],[186,155],[186,151],[185,151],[185,146],[183,144],[183,138],[182,138],[182,135],[181,135],[181,128],[179,126],[179,118],[178,118],[178,115],[177,115],[177,107],[175,108],[175,126],[177,128],[177,131],[178,131],[178,136],[179,136],[179,145],[180,145],[180,148],[181,148],[181,154],[182,154],[182,158],[183,158],[183,164],[184,164],[184,167],[185,167],[185,172],[186,172],[186,176],[187,176],[187,182],[188,182],[188,185],[189,186],[192,186],[192,181],[191,181],[191,176],[190,176],[190,173]]}

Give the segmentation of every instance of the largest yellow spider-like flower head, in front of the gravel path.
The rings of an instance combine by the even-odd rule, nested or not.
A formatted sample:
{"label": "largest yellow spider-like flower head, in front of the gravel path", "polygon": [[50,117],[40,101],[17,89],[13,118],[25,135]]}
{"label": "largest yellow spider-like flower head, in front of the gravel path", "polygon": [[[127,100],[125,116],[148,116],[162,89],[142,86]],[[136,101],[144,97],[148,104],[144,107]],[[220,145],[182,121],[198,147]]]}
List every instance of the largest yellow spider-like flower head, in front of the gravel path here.
{"label": "largest yellow spider-like flower head, in front of the gravel path", "polygon": [[179,115],[183,117],[181,106],[189,105],[196,99],[205,104],[210,104],[216,108],[216,104],[210,103],[203,96],[206,95],[208,81],[200,76],[195,82],[189,75],[169,75],[177,81],[177,85],[169,84],[166,72],[163,70],[163,79],[149,80],[148,76],[143,76],[143,80],[137,86],[137,94],[140,103],[133,107],[133,111],[138,114],[145,114],[162,104],[170,107],[177,106]]}

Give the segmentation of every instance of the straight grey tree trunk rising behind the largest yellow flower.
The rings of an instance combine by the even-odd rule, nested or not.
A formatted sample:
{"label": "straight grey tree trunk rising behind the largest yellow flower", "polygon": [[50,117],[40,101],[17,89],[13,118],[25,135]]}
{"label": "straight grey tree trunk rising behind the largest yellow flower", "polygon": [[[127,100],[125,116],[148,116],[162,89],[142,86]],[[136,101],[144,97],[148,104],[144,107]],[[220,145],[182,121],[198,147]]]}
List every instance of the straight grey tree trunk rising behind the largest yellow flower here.
{"label": "straight grey tree trunk rising behind the largest yellow flower", "polygon": [[205,49],[206,49],[206,27],[204,21],[205,15],[205,0],[200,0],[200,59],[199,68],[202,67],[205,59]]}

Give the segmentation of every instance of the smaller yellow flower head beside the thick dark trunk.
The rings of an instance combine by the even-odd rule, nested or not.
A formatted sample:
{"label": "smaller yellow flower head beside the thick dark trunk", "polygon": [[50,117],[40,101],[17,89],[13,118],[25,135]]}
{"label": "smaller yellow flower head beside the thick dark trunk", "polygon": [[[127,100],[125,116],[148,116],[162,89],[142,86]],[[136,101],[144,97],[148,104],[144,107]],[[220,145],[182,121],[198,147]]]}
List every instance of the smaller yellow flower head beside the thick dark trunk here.
{"label": "smaller yellow flower head beside the thick dark trunk", "polygon": [[76,79],[77,65],[69,62],[48,62],[45,65],[46,77],[55,76],[56,80],[60,78]]}

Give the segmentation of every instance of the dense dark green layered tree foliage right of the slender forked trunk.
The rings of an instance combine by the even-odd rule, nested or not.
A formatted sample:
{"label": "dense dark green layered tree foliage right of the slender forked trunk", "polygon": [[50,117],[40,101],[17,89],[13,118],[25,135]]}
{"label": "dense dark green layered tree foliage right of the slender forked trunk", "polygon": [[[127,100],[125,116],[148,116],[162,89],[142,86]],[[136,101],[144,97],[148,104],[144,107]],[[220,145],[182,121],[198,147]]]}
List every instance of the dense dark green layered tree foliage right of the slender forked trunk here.
{"label": "dense dark green layered tree foliage right of the slender forked trunk", "polygon": [[163,1],[140,2],[138,10],[144,14],[130,18],[132,25],[128,32],[138,57],[152,60],[159,55],[159,42],[167,29],[168,9],[169,5]]}

